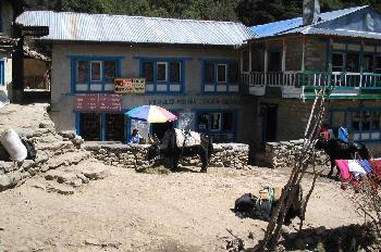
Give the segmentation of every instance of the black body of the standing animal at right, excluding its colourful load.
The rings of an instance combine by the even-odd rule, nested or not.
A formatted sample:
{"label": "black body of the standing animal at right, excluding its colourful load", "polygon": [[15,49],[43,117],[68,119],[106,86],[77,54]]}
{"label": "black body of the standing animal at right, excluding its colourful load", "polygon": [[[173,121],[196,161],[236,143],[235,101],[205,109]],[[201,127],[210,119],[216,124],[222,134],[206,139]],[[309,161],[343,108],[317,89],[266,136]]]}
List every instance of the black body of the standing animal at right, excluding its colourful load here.
{"label": "black body of the standing animal at right, excluding its colourful load", "polygon": [[[364,143],[345,142],[337,138],[323,139],[319,138],[315,143],[315,149],[324,150],[330,156],[331,171],[328,174],[329,177],[333,174],[333,167],[336,166],[335,160],[353,160],[356,159],[356,154],[361,160],[370,160],[370,152]],[[339,176],[339,168],[336,177]]]}

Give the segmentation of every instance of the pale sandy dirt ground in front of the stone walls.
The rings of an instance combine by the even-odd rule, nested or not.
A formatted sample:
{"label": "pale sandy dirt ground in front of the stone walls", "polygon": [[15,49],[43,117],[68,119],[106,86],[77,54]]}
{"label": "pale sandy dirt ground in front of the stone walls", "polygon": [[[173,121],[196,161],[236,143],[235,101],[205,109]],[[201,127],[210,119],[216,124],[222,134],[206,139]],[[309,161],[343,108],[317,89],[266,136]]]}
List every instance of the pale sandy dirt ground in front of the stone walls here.
{"label": "pale sandy dirt ground in front of the stone walls", "polygon": [[[248,242],[257,243],[267,223],[241,219],[231,209],[245,192],[283,185],[286,174],[193,172],[148,175],[109,167],[107,178],[72,196],[48,193],[39,188],[45,179],[34,177],[0,194],[0,251],[224,251],[232,239],[226,229],[242,238],[251,231]],[[339,188],[318,182],[307,225],[332,228],[361,220]]]}

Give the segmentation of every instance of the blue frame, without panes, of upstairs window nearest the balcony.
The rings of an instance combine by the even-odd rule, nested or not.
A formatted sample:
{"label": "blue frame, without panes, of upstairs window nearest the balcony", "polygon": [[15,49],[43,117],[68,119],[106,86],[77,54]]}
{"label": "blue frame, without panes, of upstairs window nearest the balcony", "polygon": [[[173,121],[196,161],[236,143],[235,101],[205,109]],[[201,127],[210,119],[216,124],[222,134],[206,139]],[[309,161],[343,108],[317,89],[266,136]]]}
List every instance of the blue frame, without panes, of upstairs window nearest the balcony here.
{"label": "blue frame, without panes, of upstairs window nearest the balcony", "polygon": [[[237,83],[230,83],[230,76],[229,76],[229,67],[233,64],[236,64],[238,67],[238,75],[239,75],[239,60],[232,60],[232,59],[204,59],[200,58],[200,63],[201,63],[201,92],[202,93],[211,93],[211,94],[230,94],[230,93],[238,93],[239,92],[239,77]],[[205,77],[206,77],[206,71],[205,71],[205,66],[206,64],[213,64],[214,65],[214,78],[213,78],[213,83],[208,84],[209,86],[214,86],[214,90],[213,91],[206,91],[206,83],[205,83]],[[226,65],[226,83],[219,83],[218,81],[218,65],[219,64],[225,64]],[[226,91],[218,91],[217,88],[218,86],[225,86],[226,87]],[[238,86],[238,90],[237,91],[229,91],[229,87],[230,86]]]}

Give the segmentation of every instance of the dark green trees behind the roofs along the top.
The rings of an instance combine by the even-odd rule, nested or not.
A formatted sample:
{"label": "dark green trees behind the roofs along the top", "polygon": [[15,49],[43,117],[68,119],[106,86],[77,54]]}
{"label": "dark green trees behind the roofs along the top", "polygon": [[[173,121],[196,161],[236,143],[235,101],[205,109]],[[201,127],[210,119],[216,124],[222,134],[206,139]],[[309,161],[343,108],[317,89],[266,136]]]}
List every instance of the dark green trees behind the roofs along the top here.
{"label": "dark green trees behind the roofs along the top", "polygon": [[[303,7],[303,0],[29,0],[29,2],[33,9],[41,10],[241,21],[249,26],[300,16]],[[322,12],[366,4],[371,4],[381,11],[380,0],[320,0]]]}

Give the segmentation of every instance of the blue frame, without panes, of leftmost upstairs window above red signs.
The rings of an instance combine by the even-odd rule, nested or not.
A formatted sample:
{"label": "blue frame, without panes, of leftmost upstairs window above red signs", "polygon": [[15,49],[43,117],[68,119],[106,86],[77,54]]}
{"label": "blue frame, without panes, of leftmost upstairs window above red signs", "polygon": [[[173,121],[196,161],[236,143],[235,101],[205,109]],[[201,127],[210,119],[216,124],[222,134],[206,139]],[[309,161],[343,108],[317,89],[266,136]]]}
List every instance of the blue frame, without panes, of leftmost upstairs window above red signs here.
{"label": "blue frame, without panes, of leftmost upstairs window above red signs", "polygon": [[[106,91],[105,90],[105,85],[110,84],[110,79],[107,79],[105,77],[105,61],[114,61],[116,63],[116,70],[115,70],[115,78],[121,77],[122,73],[122,62],[121,60],[124,59],[124,56],[99,56],[99,55],[70,55],[70,61],[71,61],[71,92],[72,93],[81,93],[81,92],[113,92],[111,91]],[[86,61],[87,62],[87,90],[84,91],[77,91],[76,90],[76,78],[77,78],[77,62],[78,61]],[[99,81],[91,81],[91,61],[100,61],[101,62],[101,80]],[[100,84],[101,85],[101,90],[94,90],[91,91],[91,85],[93,84]]]}

